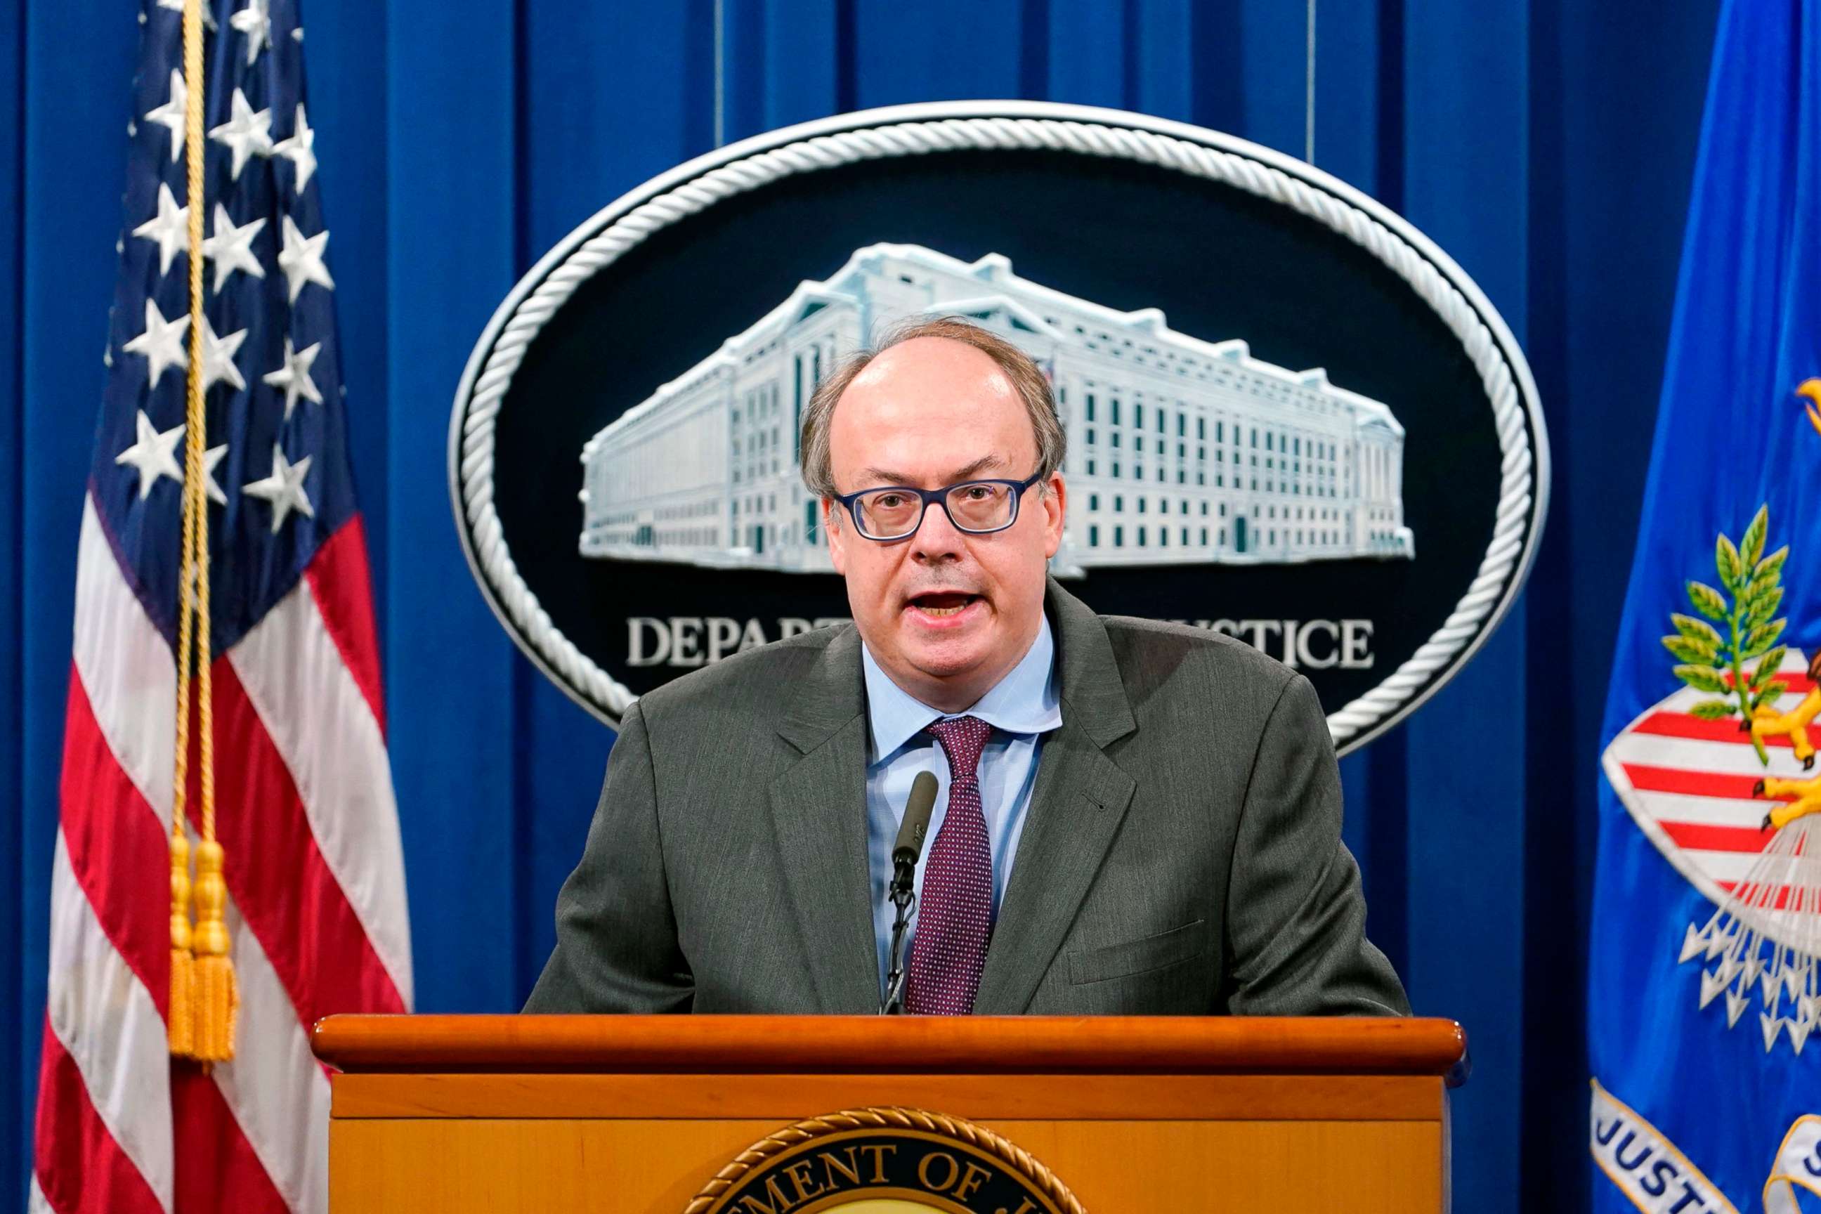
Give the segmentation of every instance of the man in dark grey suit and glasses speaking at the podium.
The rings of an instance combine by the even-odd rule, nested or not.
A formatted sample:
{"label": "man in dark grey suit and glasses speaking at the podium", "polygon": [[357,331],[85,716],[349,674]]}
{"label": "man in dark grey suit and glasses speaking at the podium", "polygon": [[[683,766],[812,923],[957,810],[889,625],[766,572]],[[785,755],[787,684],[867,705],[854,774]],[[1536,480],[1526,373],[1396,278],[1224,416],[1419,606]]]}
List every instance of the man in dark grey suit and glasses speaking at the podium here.
{"label": "man in dark grey suit and glasses speaking at the podium", "polygon": [[900,329],[801,440],[852,624],[626,712],[526,1012],[878,1012],[907,957],[912,1014],[1408,1014],[1309,683],[1049,577],[1063,430],[1023,351]]}

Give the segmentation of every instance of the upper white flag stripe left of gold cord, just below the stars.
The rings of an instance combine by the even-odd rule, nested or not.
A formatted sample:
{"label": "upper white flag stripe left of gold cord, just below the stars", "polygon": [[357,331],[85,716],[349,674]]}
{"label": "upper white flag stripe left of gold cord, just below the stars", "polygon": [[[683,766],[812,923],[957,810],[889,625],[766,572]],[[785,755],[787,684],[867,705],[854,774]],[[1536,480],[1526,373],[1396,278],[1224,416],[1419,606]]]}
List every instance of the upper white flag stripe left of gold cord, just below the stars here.
{"label": "upper white flag stripe left of gold cord, just below the stars", "polygon": [[177,661],[126,584],[95,501],[82,499],[76,544],[75,663],[115,763],[171,830]]}

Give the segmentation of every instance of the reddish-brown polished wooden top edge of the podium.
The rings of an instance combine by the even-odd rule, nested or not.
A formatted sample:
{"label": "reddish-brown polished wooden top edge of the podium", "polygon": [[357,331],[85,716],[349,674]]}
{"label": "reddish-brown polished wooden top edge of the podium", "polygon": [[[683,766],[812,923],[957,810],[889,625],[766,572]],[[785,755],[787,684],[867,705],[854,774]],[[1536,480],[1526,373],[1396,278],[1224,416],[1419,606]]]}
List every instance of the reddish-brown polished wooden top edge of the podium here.
{"label": "reddish-brown polished wooden top edge of the podium", "polygon": [[342,1072],[1466,1076],[1451,1019],[1222,1016],[330,1016]]}

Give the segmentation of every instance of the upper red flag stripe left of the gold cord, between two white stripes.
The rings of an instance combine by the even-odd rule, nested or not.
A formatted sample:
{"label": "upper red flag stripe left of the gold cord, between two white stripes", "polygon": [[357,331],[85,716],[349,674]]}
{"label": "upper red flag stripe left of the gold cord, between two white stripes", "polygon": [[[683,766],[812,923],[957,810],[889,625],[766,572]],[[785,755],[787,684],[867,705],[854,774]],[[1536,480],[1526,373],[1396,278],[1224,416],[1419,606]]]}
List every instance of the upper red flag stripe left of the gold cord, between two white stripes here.
{"label": "upper red flag stripe left of the gold cord, between two white stripes", "polygon": [[166,1014],[171,997],[171,850],[157,812],[115,761],[71,664],[62,823],[69,866],[115,952]]}

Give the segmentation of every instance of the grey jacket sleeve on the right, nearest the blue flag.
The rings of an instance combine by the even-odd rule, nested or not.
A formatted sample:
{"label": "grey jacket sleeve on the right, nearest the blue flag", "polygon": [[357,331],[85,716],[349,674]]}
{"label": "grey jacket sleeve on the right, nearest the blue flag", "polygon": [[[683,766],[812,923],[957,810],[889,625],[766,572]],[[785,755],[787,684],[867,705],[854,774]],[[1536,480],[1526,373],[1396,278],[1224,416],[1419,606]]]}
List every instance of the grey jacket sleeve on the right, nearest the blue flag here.
{"label": "grey jacket sleeve on the right, nearest the blue flag", "polygon": [[1233,1016],[1409,1016],[1397,972],[1366,939],[1358,865],[1340,841],[1340,768],[1302,675],[1258,739],[1226,912]]}

